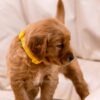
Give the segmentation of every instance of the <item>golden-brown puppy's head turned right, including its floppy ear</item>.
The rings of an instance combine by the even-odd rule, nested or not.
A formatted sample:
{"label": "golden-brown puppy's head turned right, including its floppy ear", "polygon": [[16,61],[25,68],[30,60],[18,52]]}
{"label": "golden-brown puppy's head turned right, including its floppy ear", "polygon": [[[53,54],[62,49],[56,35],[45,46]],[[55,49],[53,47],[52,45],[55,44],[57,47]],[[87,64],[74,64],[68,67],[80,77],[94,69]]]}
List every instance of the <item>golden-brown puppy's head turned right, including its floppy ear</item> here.
{"label": "golden-brown puppy's head turned right, including its floppy ear", "polygon": [[74,58],[70,48],[70,33],[58,20],[36,23],[26,38],[32,53],[43,62],[66,65]]}

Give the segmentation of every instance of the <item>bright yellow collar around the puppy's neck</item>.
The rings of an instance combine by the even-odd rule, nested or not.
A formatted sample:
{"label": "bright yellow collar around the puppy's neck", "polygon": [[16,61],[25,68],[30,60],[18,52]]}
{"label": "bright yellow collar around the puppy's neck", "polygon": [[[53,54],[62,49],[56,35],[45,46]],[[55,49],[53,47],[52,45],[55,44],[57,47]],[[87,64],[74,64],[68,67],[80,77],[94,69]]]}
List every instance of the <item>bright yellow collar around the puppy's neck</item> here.
{"label": "bright yellow collar around the puppy's neck", "polygon": [[39,61],[36,57],[34,57],[33,53],[30,51],[30,49],[27,46],[25,46],[24,35],[25,35],[25,32],[24,31],[20,32],[20,34],[19,34],[19,39],[21,41],[21,44],[22,44],[23,49],[25,50],[25,52],[28,55],[28,57],[30,59],[32,59],[32,62],[34,64],[40,64],[41,61]]}

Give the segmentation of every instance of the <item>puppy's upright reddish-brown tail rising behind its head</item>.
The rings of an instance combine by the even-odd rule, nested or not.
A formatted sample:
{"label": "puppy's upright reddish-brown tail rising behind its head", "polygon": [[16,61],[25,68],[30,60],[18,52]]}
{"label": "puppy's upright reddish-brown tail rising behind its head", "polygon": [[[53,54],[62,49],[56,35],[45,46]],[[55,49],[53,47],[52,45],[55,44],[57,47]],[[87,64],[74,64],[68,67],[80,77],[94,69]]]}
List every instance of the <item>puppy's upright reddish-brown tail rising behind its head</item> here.
{"label": "puppy's upright reddish-brown tail rising behind its head", "polygon": [[65,22],[64,17],[65,17],[64,4],[62,0],[58,0],[56,18],[60,20],[62,23],[64,23]]}

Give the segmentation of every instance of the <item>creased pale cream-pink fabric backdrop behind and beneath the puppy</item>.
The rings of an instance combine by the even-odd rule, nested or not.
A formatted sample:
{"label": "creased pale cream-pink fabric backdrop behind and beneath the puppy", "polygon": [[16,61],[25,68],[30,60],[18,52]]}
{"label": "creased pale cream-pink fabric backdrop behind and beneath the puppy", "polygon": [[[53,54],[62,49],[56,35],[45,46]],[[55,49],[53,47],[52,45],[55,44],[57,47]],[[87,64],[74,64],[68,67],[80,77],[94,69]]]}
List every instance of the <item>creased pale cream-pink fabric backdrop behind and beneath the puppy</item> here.
{"label": "creased pale cream-pink fabric backdrop behind and beneath the puppy", "polygon": [[[100,60],[100,1],[63,0],[63,2],[66,10],[66,27],[68,27],[71,32],[71,45],[75,53],[84,59]],[[8,84],[5,76],[5,58],[12,38],[29,23],[48,17],[55,17],[56,4],[57,0],[0,0],[1,88],[6,88]],[[97,95],[100,94],[100,63],[96,61],[87,62],[88,61],[80,61],[83,74],[89,84],[92,95],[90,95],[87,100],[97,100],[94,95],[100,98],[100,96]],[[56,97],[75,100],[74,96],[76,96],[76,92],[73,90],[72,84],[68,80],[66,81],[62,76],[60,80],[61,85],[58,86],[59,89],[57,89],[55,94]],[[8,100],[7,98],[10,93],[8,94],[8,92],[5,91],[0,92],[4,94],[4,96],[0,95],[0,100],[4,100],[4,98]],[[11,98],[9,100],[11,100]]]}

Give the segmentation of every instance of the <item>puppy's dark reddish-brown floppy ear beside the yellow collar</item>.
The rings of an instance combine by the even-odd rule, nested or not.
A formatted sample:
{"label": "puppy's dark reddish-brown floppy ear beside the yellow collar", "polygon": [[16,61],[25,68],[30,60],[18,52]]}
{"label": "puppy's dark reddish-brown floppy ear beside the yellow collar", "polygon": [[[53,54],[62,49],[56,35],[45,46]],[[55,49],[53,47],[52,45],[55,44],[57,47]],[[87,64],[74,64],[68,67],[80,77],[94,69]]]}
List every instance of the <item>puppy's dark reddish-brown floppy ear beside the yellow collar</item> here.
{"label": "puppy's dark reddish-brown floppy ear beside the yellow collar", "polygon": [[46,54],[47,37],[46,35],[36,35],[30,39],[29,48],[34,56],[42,60]]}

